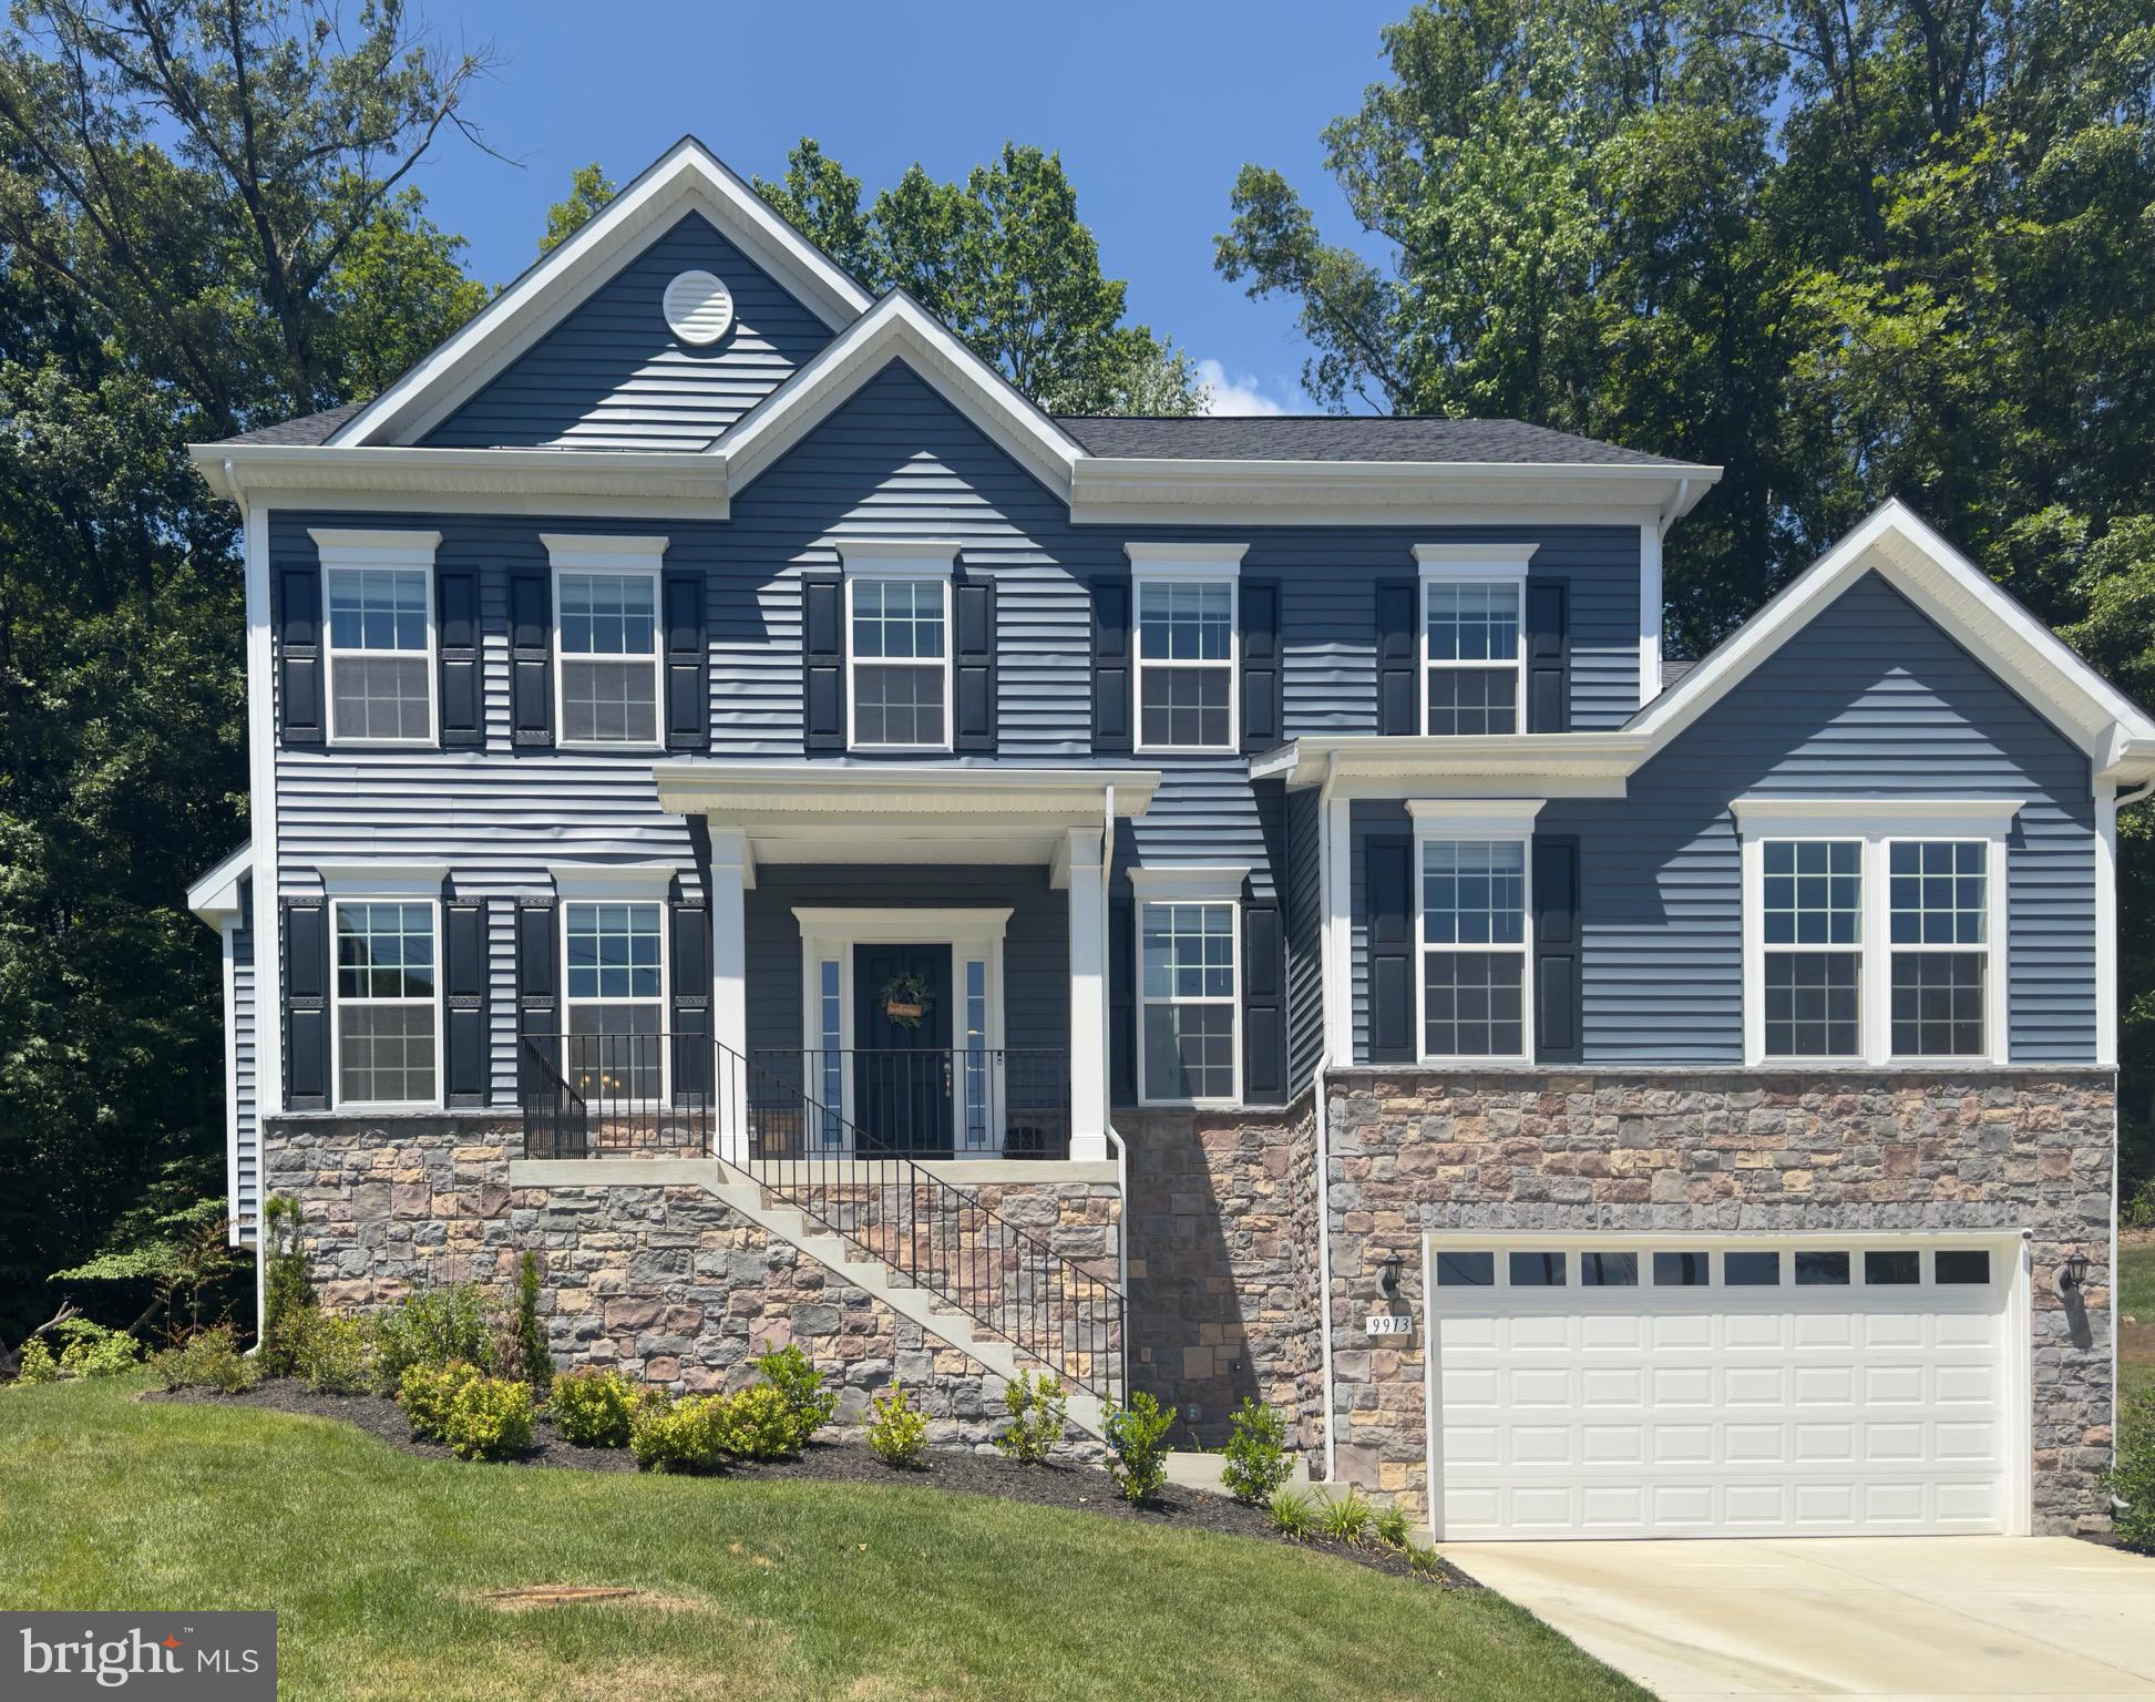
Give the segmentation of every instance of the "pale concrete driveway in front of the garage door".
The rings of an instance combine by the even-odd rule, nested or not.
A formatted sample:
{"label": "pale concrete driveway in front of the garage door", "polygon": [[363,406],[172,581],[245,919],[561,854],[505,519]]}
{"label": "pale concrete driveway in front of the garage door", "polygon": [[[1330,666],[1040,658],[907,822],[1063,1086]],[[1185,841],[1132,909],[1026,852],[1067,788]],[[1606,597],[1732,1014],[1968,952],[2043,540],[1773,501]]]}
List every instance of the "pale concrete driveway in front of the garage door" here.
{"label": "pale concrete driveway in front of the garage door", "polygon": [[1664,1702],[2155,1698],[2155,1560],[2064,1536],[1444,1553]]}

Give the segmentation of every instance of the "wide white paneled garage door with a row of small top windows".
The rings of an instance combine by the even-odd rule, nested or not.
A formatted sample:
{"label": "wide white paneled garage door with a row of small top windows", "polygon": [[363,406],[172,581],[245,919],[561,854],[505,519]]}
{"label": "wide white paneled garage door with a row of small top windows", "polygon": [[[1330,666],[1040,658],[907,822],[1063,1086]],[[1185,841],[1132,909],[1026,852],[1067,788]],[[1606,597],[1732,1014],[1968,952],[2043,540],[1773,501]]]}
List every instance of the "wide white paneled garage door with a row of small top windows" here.
{"label": "wide white paneled garage door with a row of small top windows", "polygon": [[1431,1237],[1437,1534],[2006,1527],[2002,1243]]}

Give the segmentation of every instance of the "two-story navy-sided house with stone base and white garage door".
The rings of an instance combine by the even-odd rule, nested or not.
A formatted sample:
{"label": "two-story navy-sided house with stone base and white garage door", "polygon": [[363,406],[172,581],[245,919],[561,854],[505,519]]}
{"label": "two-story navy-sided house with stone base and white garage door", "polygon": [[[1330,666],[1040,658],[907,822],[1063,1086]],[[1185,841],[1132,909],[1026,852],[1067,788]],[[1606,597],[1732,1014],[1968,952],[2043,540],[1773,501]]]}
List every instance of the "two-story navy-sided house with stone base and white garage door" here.
{"label": "two-story navy-sided house with stone base and white garage door", "polygon": [[328,1303],[1256,1396],[1450,1538],[2103,1523],[2155,726],[1905,508],[1679,679],[1713,468],[1049,418],[692,140],[194,457],[233,1209]]}

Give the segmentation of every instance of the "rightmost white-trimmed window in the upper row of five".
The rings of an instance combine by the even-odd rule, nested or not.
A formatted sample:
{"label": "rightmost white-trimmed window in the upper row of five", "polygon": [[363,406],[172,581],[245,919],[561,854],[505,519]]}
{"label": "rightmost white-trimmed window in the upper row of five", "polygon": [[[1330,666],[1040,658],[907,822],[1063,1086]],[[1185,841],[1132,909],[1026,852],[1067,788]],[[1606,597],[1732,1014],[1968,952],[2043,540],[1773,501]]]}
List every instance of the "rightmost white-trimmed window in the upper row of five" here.
{"label": "rightmost white-trimmed window in the upper row of five", "polygon": [[1422,730],[1526,728],[1526,562],[1532,545],[1418,545]]}

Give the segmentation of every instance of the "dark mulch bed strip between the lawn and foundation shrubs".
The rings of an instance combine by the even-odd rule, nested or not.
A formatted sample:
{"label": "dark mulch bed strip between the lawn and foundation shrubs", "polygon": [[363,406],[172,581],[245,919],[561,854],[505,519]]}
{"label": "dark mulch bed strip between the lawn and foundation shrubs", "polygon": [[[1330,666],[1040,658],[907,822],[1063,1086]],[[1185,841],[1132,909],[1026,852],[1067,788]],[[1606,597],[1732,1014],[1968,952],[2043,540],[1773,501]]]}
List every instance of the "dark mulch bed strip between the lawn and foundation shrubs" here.
{"label": "dark mulch bed strip between the lawn and foundation shrubs", "polygon": [[[308,1418],[334,1418],[356,1424],[371,1437],[379,1437],[390,1448],[418,1459],[455,1459],[437,1441],[416,1441],[405,1424],[403,1407],[379,1394],[319,1394],[306,1383],[289,1377],[274,1377],[241,1394],[215,1394],[211,1390],[151,1390],[142,1400],[181,1400],[209,1407],[267,1407],[278,1413],[302,1413]],[[537,1443],[509,1465],[552,1465],[573,1471],[634,1471],[636,1456],[627,1448],[578,1448],[554,1435],[552,1424],[541,1415]],[[996,1495],[1004,1502],[1026,1502],[1030,1506],[1058,1506],[1071,1512],[1093,1512],[1103,1519],[1136,1519],[1149,1525],[1177,1525],[1181,1530],[1211,1530],[1228,1536],[1254,1536],[1265,1543],[1291,1543],[1274,1530],[1271,1519],[1252,1506],[1233,1502],[1226,1495],[1211,1495],[1202,1489],[1181,1489],[1168,1484],[1157,1502],[1131,1506],[1125,1502],[1106,1471],[1088,1465],[1017,1465],[1000,1454],[972,1454],[955,1448],[929,1452],[929,1465],[920,1471],[894,1471],[868,1452],[860,1441],[810,1441],[797,1461],[731,1461],[726,1478],[756,1482],[763,1478],[806,1478],[815,1482],[866,1482],[866,1484],[922,1484],[927,1489],[948,1489],[959,1495]],[[1412,1577],[1407,1560],[1386,1547],[1360,1547],[1312,1536],[1293,1547],[1334,1553],[1358,1566],[1394,1577]],[[1480,1586],[1448,1562],[1433,1579],[1452,1590],[1478,1590]]]}

